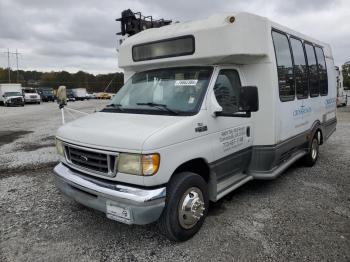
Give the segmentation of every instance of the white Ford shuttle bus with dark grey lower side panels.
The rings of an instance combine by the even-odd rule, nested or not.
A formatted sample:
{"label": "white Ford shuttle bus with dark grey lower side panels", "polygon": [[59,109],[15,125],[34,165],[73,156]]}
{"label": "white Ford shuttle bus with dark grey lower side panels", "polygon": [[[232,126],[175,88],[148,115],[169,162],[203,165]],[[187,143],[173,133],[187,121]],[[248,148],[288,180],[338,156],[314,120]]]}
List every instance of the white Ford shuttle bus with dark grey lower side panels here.
{"label": "white Ford shuttle bus with dark grey lower side panels", "polygon": [[292,163],[316,163],[336,129],[328,44],[248,13],[142,31],[120,46],[110,105],[59,128],[59,190],[184,241],[209,201]]}

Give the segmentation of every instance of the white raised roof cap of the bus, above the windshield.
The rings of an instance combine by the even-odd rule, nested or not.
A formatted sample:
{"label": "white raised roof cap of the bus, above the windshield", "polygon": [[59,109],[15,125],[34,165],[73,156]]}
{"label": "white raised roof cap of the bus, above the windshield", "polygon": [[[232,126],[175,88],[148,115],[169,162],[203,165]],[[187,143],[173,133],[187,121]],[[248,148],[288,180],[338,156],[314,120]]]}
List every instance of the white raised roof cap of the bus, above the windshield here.
{"label": "white raised roof cap of the bus, above the windshield", "polygon": [[[325,43],[274,23],[265,17],[241,12],[212,15],[207,19],[197,21],[173,23],[160,28],[147,29],[126,38],[119,49],[119,67],[139,71],[147,68],[176,66],[179,63],[181,65],[212,65],[270,62],[273,59],[271,57],[273,51],[270,40],[271,28],[322,46],[325,49],[325,55],[332,57],[330,48]],[[159,48],[156,46],[158,42],[164,42],[167,39],[171,41],[183,36],[194,38],[192,53],[139,61],[134,57],[135,47],[147,47],[147,43],[154,43],[154,48]],[[139,53],[147,55],[148,51],[140,50]],[[156,53],[159,50],[154,49],[153,51]]]}

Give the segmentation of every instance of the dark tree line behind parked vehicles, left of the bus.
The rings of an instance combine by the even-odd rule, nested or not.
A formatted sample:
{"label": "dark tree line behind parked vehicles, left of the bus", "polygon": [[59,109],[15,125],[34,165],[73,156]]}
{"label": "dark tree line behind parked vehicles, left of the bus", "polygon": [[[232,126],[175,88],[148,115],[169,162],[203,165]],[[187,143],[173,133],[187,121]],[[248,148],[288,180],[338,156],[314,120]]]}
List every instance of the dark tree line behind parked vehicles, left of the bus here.
{"label": "dark tree line behind parked vehicles, left of the bus", "polygon": [[[0,83],[8,83],[8,69],[0,67]],[[12,83],[21,83],[25,87],[57,88],[64,85],[67,88],[86,88],[88,92],[102,92],[110,83],[106,92],[115,93],[124,84],[124,74],[121,72],[93,75],[84,71],[69,73],[67,71],[17,71],[10,70]],[[18,81],[17,81],[18,79]]]}

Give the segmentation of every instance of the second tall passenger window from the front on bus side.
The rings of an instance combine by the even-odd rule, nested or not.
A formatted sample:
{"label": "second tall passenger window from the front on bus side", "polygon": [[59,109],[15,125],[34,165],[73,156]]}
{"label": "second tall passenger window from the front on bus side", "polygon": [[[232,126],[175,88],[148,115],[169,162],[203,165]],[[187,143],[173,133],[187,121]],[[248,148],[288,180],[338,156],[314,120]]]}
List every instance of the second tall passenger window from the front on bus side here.
{"label": "second tall passenger window from the front on bus side", "polygon": [[297,98],[304,99],[309,97],[308,78],[306,60],[303,43],[295,38],[290,39],[294,58],[294,76],[297,91]]}

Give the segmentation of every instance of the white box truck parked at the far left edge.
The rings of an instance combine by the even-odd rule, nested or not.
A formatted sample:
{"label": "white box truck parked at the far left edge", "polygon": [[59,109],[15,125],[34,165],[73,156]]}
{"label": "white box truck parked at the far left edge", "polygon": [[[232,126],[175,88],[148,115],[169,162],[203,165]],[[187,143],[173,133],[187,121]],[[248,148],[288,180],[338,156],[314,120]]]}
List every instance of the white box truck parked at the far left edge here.
{"label": "white box truck parked at the far left edge", "polygon": [[24,106],[21,84],[0,84],[0,104]]}

